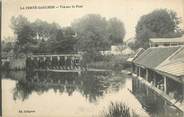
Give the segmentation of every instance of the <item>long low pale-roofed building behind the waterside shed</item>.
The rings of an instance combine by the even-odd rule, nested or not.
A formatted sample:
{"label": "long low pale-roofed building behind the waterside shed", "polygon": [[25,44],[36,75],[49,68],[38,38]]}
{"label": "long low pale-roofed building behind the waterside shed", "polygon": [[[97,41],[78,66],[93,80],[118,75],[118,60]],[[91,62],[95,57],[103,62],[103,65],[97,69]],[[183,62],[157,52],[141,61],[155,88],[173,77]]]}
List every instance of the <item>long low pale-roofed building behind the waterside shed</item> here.
{"label": "long low pale-roofed building behind the waterside shed", "polygon": [[151,38],[149,45],[150,47],[184,45],[184,36],[179,38]]}

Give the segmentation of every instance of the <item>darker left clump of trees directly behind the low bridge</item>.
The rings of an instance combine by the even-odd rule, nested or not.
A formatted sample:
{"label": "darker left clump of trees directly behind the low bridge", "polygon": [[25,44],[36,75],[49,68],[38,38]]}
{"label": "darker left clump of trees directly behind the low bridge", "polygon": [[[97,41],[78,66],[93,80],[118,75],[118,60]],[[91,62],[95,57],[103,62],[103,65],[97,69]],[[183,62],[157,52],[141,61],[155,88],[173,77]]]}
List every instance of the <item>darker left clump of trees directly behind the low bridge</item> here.
{"label": "darker left clump of trees directly behind the low bridge", "polygon": [[71,27],[61,28],[56,23],[26,17],[12,17],[11,28],[17,36],[15,53],[69,53],[75,52],[75,32]]}

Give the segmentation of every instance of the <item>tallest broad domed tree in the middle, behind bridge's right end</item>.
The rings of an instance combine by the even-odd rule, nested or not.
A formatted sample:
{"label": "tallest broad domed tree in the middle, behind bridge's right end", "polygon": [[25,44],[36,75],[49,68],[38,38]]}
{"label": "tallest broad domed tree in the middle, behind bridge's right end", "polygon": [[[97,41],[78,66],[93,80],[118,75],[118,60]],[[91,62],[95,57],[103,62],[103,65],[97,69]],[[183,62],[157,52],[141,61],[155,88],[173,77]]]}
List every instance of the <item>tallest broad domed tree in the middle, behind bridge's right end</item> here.
{"label": "tallest broad domed tree in the middle, behind bridge's right end", "polygon": [[103,51],[109,48],[105,18],[89,14],[72,23],[77,33],[77,47],[81,51]]}

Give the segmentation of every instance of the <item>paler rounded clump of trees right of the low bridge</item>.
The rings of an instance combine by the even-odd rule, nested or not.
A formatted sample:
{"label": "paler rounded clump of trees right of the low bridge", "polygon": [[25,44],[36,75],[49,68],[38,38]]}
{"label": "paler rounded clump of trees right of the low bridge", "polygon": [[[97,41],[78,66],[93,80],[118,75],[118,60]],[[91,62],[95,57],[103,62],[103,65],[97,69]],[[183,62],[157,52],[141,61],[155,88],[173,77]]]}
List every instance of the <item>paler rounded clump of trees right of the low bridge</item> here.
{"label": "paler rounded clump of trees right of the low bridge", "polygon": [[124,25],[116,18],[107,21],[97,14],[89,14],[72,23],[77,33],[79,50],[94,52],[108,50],[120,44],[125,35]]}

